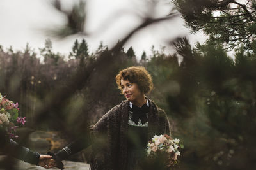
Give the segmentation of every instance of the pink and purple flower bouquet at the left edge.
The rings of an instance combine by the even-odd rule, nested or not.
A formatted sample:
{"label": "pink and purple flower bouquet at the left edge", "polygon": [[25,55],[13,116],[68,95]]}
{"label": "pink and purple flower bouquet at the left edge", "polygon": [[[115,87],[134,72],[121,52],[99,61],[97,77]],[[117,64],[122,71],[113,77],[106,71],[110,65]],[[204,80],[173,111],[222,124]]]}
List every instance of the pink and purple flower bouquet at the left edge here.
{"label": "pink and purple flower bouquet at the left edge", "polygon": [[13,103],[2,96],[0,93],[0,128],[4,128],[10,138],[18,138],[15,135],[16,129],[18,126],[15,125],[15,122],[24,125],[26,117],[19,116],[19,104]]}

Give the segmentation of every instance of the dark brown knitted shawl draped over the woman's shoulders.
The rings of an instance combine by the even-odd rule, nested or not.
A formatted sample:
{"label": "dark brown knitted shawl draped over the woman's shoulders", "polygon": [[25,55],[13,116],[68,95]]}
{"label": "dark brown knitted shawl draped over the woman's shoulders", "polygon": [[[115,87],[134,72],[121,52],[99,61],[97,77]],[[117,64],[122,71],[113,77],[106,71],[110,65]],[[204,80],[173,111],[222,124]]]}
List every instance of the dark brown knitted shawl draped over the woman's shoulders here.
{"label": "dark brown knitted shawl draped over the woman's shoulders", "polygon": [[[148,141],[155,134],[170,135],[170,123],[166,113],[153,101],[148,101]],[[90,169],[127,169],[128,117],[129,101],[122,101],[93,125]]]}

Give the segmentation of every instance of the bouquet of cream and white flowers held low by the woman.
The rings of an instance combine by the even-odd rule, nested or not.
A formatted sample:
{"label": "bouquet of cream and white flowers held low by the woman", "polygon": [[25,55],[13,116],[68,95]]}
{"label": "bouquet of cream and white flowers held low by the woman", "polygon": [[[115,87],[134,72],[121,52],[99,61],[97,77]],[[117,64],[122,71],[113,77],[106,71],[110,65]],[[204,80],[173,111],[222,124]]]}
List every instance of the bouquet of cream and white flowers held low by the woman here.
{"label": "bouquet of cream and white flowers held low by the woman", "polygon": [[177,157],[180,156],[179,148],[184,146],[180,144],[180,139],[172,139],[167,134],[160,136],[155,135],[147,145],[148,157],[154,159],[162,157],[166,167],[177,164]]}

